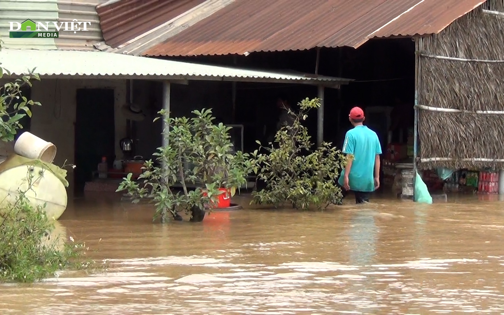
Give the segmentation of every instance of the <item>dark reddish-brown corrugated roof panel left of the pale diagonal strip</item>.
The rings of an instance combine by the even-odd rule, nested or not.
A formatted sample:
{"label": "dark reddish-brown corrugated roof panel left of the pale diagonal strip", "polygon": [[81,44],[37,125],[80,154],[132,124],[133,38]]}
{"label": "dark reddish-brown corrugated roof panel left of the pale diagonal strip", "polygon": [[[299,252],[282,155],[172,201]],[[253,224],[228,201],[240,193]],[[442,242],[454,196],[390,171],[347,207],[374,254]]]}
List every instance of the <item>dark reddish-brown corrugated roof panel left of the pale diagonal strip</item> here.
{"label": "dark reddish-brown corrugated roof panel left of the pale diagonal strip", "polygon": [[136,38],[205,0],[121,0],[96,7],[105,42],[112,48]]}

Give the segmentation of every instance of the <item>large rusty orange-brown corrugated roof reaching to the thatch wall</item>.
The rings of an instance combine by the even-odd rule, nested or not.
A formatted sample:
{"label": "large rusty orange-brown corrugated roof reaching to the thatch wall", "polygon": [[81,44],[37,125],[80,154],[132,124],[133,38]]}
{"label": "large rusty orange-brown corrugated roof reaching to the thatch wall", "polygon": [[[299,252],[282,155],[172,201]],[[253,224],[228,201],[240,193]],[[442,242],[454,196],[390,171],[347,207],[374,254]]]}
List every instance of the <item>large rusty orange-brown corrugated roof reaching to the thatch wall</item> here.
{"label": "large rusty orange-brown corrugated roof reaching to the thatch wall", "polygon": [[461,12],[469,12],[482,2],[236,0],[143,54],[180,56],[357,48],[369,38],[390,36],[387,34],[437,33],[459,18]]}

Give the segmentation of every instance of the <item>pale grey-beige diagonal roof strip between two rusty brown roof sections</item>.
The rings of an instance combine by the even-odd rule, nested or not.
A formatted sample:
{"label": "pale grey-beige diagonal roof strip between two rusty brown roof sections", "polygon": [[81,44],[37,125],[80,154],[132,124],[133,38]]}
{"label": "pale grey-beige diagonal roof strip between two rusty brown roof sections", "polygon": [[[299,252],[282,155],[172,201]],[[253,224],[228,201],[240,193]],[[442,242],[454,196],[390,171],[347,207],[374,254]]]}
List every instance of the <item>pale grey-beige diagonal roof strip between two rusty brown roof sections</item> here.
{"label": "pale grey-beige diagonal roof strip between two rusty brown roof sections", "polygon": [[118,45],[116,48],[112,48],[105,41],[96,43],[95,47],[107,52],[141,55],[149,48],[180,33],[187,27],[193,26],[197,22],[209,17],[232,2],[234,2],[234,0],[206,0],[202,4],[185,11],[179,16],[168,20],[158,27],[147,31],[128,42]]}

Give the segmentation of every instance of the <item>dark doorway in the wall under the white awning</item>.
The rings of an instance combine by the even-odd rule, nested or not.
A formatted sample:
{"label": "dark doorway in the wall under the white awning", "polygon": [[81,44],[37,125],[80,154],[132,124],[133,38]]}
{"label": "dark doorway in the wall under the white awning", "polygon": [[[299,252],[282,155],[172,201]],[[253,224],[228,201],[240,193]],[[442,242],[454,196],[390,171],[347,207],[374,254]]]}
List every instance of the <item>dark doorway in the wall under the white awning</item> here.
{"label": "dark doorway in the wall under the white awning", "polygon": [[[75,119],[75,193],[84,193],[87,181],[102,157],[115,159],[113,89],[77,89]],[[111,165],[109,165],[110,167]]]}

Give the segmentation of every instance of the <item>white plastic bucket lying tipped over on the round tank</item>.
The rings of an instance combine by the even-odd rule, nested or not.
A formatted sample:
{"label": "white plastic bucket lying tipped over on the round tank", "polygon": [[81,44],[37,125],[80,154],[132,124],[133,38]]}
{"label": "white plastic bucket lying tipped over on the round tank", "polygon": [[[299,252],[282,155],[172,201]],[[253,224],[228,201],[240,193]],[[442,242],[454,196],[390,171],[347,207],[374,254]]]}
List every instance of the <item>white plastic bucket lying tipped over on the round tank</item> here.
{"label": "white plastic bucket lying tipped over on the round tank", "polygon": [[14,144],[14,152],[29,159],[52,163],[56,156],[56,146],[29,132],[24,132]]}

